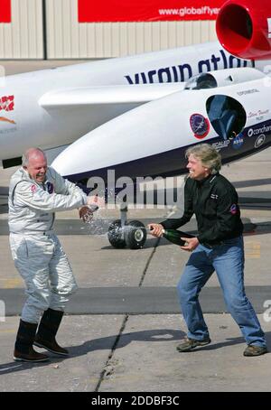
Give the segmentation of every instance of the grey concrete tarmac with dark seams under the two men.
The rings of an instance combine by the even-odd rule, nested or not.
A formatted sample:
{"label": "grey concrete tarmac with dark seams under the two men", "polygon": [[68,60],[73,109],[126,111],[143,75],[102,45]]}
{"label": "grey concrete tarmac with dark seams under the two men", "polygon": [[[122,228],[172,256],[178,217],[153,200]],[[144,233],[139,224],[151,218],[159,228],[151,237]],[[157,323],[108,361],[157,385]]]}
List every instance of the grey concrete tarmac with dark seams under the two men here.
{"label": "grey concrete tarmac with dark seams under the two men", "polygon": [[[271,350],[271,149],[224,167],[235,184],[245,224],[245,284]],[[188,254],[148,237],[139,250],[114,249],[107,227],[117,210],[100,210],[91,225],[77,211],[60,212],[55,229],[79,284],[67,306],[58,341],[63,359],[13,361],[23,305],[23,281],[8,245],[6,191],[14,169],[0,169],[0,391],[2,392],[269,392],[271,354],[245,358],[246,347],[212,275],[201,294],[211,343],[190,353],[175,348],[186,328],[175,287]],[[130,210],[145,224],[171,207]],[[195,220],[183,230],[195,232]],[[42,351],[42,350],[41,350]]]}

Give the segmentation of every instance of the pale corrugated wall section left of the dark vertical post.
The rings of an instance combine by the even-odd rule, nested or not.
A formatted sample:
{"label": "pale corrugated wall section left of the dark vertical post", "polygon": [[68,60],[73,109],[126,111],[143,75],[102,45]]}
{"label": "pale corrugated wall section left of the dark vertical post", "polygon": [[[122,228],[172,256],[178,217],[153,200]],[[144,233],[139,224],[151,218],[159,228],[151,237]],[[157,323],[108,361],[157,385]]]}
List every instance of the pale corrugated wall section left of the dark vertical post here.
{"label": "pale corrugated wall section left of the dark vertical post", "polygon": [[12,22],[0,23],[0,59],[42,58],[42,0],[12,0]]}

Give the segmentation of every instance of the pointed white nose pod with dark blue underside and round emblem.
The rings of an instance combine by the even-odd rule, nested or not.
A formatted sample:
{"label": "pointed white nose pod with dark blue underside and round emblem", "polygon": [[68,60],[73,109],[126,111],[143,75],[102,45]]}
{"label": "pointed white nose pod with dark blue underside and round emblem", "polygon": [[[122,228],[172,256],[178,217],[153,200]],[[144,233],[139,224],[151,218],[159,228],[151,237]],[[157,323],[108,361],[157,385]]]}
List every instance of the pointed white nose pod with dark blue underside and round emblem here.
{"label": "pointed white nose pod with dark blue underside and round emblem", "polygon": [[208,142],[224,163],[271,144],[271,77],[256,69],[199,74],[175,91],[98,126],[70,144],[52,166],[73,181],[132,180],[186,170],[189,145]]}

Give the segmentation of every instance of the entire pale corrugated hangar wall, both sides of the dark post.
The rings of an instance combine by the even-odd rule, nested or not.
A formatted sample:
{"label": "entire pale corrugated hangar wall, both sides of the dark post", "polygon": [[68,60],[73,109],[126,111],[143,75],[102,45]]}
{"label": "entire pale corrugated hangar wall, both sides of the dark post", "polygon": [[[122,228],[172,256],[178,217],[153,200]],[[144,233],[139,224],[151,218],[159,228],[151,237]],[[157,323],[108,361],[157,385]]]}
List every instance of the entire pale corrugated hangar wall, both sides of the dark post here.
{"label": "entire pale corrugated hangar wall, both sides of the dark post", "polygon": [[79,23],[78,0],[44,0],[44,34],[42,0],[11,1],[12,22],[0,23],[0,59],[118,57],[216,39],[213,21]]}

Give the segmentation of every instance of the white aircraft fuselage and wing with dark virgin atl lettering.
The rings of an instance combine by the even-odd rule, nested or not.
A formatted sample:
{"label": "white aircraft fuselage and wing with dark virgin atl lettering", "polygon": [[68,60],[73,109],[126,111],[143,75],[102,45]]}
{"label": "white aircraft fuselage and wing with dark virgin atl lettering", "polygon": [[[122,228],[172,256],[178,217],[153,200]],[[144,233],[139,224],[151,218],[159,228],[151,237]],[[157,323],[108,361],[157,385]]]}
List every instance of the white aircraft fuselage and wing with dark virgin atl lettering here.
{"label": "white aircraft fuselage and wing with dark virgin atl lettering", "polygon": [[13,166],[31,145],[63,149],[126,111],[182,90],[201,71],[247,66],[253,62],[212,42],[8,76],[0,82],[0,160]]}

